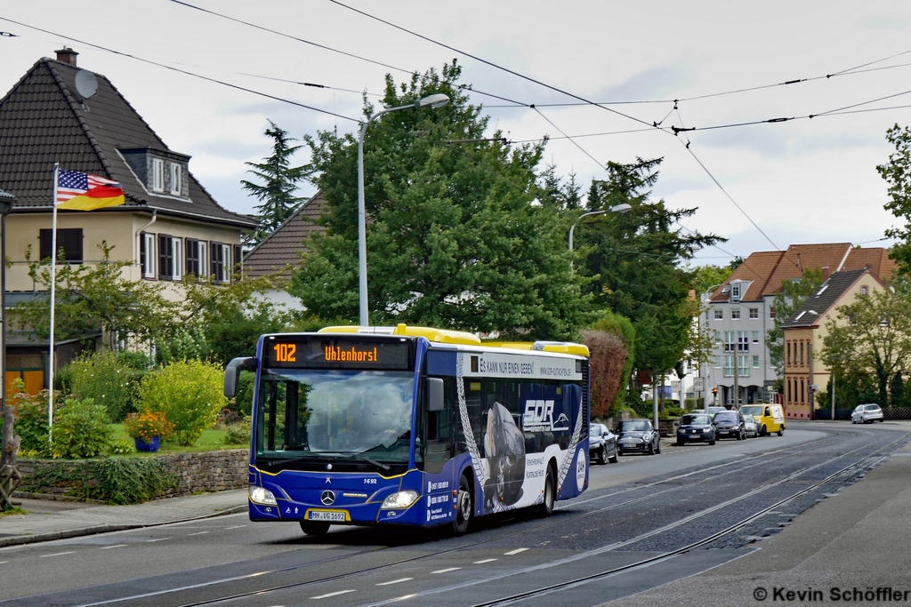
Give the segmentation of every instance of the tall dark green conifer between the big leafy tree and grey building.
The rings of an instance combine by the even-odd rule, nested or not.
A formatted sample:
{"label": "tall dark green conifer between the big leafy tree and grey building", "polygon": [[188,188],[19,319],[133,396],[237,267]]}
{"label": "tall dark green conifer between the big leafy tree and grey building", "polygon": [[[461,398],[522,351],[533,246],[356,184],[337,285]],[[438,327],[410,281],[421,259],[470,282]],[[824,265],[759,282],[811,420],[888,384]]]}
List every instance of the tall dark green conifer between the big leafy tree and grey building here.
{"label": "tall dark green conifer between the big leafy tree and grey building", "polygon": [[[577,228],[577,268],[590,283],[596,305],[632,321],[636,329],[635,366],[663,373],[680,368],[693,346],[694,302],[691,273],[683,264],[703,247],[724,238],[680,227],[695,208],[670,210],[650,200],[661,159],[637,158],[630,164],[608,163],[608,178],[593,180],[589,210],[629,204],[622,215],[588,218]],[[681,370],[682,372],[682,370]]]}

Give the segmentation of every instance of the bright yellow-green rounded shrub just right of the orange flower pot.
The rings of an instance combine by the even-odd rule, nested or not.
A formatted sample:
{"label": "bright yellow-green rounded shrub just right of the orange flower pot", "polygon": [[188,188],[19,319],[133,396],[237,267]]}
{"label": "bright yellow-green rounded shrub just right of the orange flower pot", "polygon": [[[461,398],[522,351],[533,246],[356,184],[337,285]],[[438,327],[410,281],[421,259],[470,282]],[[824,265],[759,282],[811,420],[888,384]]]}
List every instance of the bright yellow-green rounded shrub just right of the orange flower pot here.
{"label": "bright yellow-green rounded shrub just right of the orange flower pot", "polygon": [[164,413],[174,424],[174,438],[188,446],[199,440],[227,405],[222,393],[224,370],[200,360],[175,362],[149,372],[138,389],[138,408]]}

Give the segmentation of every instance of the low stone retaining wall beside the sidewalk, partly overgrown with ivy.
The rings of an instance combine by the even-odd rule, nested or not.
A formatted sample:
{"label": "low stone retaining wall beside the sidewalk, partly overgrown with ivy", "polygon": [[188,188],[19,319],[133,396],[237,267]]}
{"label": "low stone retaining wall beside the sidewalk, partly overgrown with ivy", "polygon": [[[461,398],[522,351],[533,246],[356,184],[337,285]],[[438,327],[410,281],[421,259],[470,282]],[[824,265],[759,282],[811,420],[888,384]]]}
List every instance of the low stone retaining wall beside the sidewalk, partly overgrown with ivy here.
{"label": "low stone retaining wall beside the sidewalk, partly overgrown with ivy", "polygon": [[[167,453],[153,457],[163,460],[175,478],[167,497],[247,486],[249,449]],[[92,461],[20,458],[17,468],[23,480],[16,492],[23,497],[26,493],[29,497],[43,494],[57,500],[66,500],[67,495],[84,495],[81,488],[97,484],[92,474]]]}

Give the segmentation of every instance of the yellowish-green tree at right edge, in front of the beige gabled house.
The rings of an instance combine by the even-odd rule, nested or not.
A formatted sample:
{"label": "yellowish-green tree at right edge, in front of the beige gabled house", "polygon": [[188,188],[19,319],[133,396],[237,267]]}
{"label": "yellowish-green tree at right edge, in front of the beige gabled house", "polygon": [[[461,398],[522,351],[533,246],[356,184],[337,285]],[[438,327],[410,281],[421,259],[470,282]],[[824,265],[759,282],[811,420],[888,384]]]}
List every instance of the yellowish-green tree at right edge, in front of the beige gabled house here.
{"label": "yellowish-green tree at right edge, in front of the beige gabled house", "polygon": [[[894,381],[911,362],[911,298],[909,285],[899,283],[896,293],[885,289],[838,308],[826,323],[823,360],[836,377],[875,378],[879,402],[901,404]],[[893,390],[890,390],[892,384]],[[836,390],[837,391],[837,390]],[[836,399],[839,396],[836,394]],[[898,402],[893,402],[898,400]]]}

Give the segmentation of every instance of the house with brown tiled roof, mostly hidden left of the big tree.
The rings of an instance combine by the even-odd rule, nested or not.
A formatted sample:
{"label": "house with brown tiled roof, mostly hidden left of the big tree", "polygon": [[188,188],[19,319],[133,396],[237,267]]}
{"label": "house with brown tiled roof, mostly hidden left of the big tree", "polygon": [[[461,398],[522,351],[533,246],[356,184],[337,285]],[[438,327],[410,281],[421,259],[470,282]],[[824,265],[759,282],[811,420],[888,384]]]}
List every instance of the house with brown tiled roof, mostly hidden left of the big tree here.
{"label": "house with brown tiled roof, mostly hidden left of the big tree", "polygon": [[[317,191],[309,200],[298,207],[260,244],[252,248],[243,258],[243,275],[259,278],[280,272],[284,278],[291,278],[291,271],[301,265],[304,241],[311,236],[324,234],[321,218],[329,212],[322,191]],[[263,294],[275,303],[291,309],[300,309],[301,302],[287,292],[274,291]]]}

